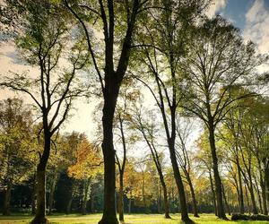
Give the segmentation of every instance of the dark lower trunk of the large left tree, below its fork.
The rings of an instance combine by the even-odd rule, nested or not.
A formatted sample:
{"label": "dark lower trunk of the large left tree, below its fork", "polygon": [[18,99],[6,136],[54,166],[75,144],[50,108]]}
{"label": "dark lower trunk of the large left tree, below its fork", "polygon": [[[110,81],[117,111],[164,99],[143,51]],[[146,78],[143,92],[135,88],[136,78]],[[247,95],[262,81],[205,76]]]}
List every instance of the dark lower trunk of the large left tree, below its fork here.
{"label": "dark lower trunk of the large left tree, below its fork", "polygon": [[[44,122],[43,122],[44,124]],[[47,124],[47,123],[46,123]],[[44,151],[37,168],[37,211],[32,224],[48,223],[46,219],[46,168],[50,152],[50,133],[44,126]]]}

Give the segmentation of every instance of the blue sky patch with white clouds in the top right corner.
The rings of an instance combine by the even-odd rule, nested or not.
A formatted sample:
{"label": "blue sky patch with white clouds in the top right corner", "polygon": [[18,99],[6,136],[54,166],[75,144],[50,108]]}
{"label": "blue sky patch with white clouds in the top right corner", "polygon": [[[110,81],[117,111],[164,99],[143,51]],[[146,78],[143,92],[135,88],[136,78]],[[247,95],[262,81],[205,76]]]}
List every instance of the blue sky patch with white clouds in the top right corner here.
{"label": "blue sky patch with white clouds in the top right corner", "polygon": [[269,0],[216,0],[207,14],[221,14],[254,41],[260,53],[269,53]]}

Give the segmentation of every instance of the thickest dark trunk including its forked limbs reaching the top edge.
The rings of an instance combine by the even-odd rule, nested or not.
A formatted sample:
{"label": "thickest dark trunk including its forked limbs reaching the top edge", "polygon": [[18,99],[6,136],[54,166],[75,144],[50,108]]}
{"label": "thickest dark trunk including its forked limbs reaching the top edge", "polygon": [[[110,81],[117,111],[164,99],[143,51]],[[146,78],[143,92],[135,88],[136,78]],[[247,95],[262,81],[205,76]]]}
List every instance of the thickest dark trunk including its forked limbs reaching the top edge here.
{"label": "thickest dark trunk including its forked limbs reaching the top edge", "polygon": [[[100,1],[101,3],[102,1]],[[100,4],[101,6],[102,4]],[[128,7],[128,6],[127,6]],[[107,18],[105,12],[101,12],[104,22],[105,34],[105,85],[103,87],[103,142],[102,151],[104,156],[104,209],[103,216],[99,224],[117,224],[116,204],[115,204],[115,150],[113,144],[113,119],[117,104],[118,91],[121,82],[126,74],[131,53],[131,43],[134,35],[134,26],[140,1],[134,0],[130,21],[127,22],[126,36],[120,52],[117,70],[114,70],[114,5],[113,1],[108,1],[109,26],[106,30]],[[107,33],[108,32],[108,33]],[[107,34],[107,35],[106,35]],[[109,35],[108,35],[109,34]]]}

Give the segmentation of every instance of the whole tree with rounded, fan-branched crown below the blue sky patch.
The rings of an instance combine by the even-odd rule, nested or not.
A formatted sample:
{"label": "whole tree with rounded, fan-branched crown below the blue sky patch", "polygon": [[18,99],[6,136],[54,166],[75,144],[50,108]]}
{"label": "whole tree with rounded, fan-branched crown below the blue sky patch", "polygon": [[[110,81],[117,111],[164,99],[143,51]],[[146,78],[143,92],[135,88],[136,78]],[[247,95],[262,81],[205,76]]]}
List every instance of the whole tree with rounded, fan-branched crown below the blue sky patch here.
{"label": "whole tree with rounded, fan-branched crown below the blue sky patch", "polygon": [[232,90],[246,84],[246,78],[261,64],[261,60],[255,56],[254,44],[245,44],[239,30],[221,16],[213,20],[205,19],[192,36],[196,39],[189,39],[188,54],[180,65],[187,74],[187,80],[192,83],[185,91],[187,101],[182,108],[201,118],[208,129],[217,215],[221,219],[227,219],[222,203],[215,129],[232,108],[233,102],[253,96],[253,93],[243,92],[233,98]]}

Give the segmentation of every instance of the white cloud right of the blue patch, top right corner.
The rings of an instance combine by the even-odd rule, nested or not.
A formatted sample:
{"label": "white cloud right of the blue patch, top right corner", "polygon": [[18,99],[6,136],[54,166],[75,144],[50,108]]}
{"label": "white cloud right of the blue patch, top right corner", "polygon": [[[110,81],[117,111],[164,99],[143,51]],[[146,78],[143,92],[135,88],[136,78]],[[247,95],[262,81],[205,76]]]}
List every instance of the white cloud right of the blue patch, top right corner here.
{"label": "white cloud right of the blue patch, top right corner", "polygon": [[257,44],[260,53],[269,53],[269,12],[264,0],[256,0],[247,11],[243,35]]}

